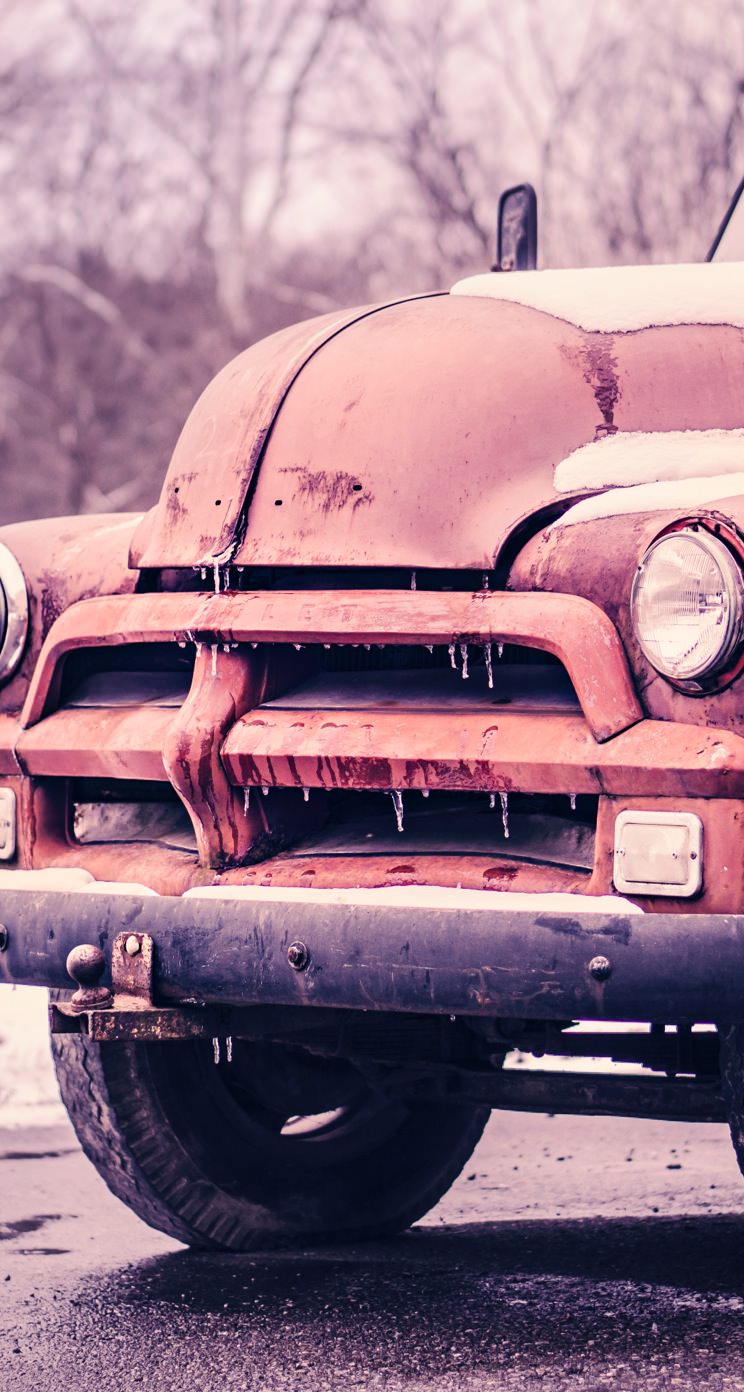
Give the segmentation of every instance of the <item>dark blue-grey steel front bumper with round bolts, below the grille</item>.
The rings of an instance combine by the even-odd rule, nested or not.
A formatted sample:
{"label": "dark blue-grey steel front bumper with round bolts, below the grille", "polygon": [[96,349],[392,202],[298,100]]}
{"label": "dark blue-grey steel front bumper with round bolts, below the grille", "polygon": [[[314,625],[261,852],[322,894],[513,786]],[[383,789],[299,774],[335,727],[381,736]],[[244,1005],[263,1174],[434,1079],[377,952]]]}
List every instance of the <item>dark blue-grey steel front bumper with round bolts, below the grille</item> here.
{"label": "dark blue-grey steel front bumper with round bolts, below the grille", "polygon": [[152,935],[163,1005],[744,1020],[744,916],[511,912],[75,894],[0,898],[0,980],[71,987],[65,958]]}

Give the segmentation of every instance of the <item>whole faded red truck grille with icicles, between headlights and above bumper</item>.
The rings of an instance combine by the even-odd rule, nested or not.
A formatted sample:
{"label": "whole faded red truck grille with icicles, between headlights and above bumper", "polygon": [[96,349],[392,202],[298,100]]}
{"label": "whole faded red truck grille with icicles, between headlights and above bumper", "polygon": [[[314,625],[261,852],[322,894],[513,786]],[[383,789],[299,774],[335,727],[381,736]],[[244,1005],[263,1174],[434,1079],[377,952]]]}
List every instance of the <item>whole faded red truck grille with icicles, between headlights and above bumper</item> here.
{"label": "whole faded red truck grille with icicles, between headlights and above bumper", "polygon": [[488,883],[589,873],[596,742],[637,718],[612,624],[568,596],[144,593],[57,621],[18,750],[78,845]]}

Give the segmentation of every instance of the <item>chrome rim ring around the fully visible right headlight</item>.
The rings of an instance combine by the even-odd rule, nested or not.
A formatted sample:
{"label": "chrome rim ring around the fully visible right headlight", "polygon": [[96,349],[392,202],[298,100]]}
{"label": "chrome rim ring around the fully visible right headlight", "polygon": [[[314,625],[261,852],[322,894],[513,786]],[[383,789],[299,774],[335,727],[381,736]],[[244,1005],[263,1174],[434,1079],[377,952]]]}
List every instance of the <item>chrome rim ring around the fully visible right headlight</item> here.
{"label": "chrome rim ring around the fully visible right headlight", "polygon": [[[708,693],[719,689],[727,679],[736,675],[737,654],[741,647],[744,633],[744,578],[741,569],[741,553],[738,544],[736,551],[720,537],[720,528],[716,535],[712,529],[699,523],[688,522],[676,526],[655,541],[644,553],[630,594],[630,614],[635,640],[653,671],[659,672],[673,686],[690,695]],[[680,654],[677,661],[665,661],[653,640],[644,632],[644,618],[641,606],[644,601],[644,587],[649,586],[649,571],[658,562],[662,548],[670,548],[683,540],[692,551],[699,548],[708,562],[712,562],[720,578],[716,592],[720,596],[720,618],[716,626],[720,628],[715,650],[708,650],[705,656],[695,660],[694,649],[687,661]],[[734,536],[731,533],[731,540]],[[737,539],[736,539],[737,540]],[[701,614],[702,618],[702,614]]]}

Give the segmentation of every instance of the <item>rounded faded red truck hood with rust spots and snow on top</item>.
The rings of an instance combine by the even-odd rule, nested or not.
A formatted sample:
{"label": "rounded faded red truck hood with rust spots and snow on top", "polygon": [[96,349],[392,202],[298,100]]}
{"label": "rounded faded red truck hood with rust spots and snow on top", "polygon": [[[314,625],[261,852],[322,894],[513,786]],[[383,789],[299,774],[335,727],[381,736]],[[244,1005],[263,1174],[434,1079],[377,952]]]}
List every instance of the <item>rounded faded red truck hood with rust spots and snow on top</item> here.
{"label": "rounded faded red truck hood with rust spots and snow on top", "polygon": [[[640,482],[619,436],[670,433],[644,482],[695,477],[683,433],[744,427],[743,327],[744,267],[720,264],[478,276],[283,330],[196,402],[131,564],[489,569]],[[741,469],[730,444],[698,472]]]}

